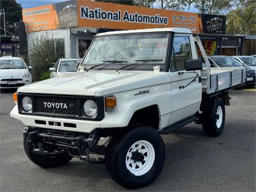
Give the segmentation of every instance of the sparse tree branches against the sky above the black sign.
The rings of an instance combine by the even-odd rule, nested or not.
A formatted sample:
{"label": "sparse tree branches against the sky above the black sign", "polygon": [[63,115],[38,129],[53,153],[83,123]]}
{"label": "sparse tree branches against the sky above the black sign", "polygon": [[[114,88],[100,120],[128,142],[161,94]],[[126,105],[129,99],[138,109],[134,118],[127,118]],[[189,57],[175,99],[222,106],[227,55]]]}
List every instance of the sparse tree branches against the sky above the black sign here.
{"label": "sparse tree branches against the sky above the black sign", "polygon": [[200,13],[223,15],[236,7],[241,0],[189,0]]}

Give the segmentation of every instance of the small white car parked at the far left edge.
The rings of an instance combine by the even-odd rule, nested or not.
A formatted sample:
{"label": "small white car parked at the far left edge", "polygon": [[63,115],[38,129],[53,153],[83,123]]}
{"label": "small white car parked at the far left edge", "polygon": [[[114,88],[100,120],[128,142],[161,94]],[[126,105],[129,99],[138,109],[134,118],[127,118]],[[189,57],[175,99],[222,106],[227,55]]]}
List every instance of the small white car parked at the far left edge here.
{"label": "small white car parked at the far left edge", "polygon": [[22,58],[0,58],[0,89],[18,88],[32,82],[31,73]]}

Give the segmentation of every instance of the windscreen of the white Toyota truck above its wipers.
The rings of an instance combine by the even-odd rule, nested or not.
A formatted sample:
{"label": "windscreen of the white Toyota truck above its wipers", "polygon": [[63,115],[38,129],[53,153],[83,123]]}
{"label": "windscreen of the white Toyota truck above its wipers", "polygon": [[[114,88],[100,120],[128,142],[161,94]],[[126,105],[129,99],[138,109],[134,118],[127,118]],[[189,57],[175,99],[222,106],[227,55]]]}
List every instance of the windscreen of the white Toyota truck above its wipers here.
{"label": "windscreen of the white Toyota truck above its wipers", "polygon": [[[167,44],[168,33],[99,36],[93,41],[82,64],[99,65],[104,61],[122,61],[120,65],[129,65],[138,60],[156,60],[150,63],[163,65]],[[113,63],[106,65],[113,66]]]}

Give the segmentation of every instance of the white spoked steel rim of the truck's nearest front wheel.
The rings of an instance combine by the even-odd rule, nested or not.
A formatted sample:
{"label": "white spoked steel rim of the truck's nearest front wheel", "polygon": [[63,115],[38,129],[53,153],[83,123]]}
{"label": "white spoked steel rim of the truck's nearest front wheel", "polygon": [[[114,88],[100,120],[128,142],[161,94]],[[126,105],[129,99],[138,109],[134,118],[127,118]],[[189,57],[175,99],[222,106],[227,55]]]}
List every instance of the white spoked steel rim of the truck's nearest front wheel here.
{"label": "white spoked steel rim of the truck's nearest front wheel", "polygon": [[[143,160],[141,161],[142,158]],[[136,176],[147,173],[152,168],[154,161],[154,147],[145,140],[136,141],[136,143],[132,144],[125,157],[127,170]]]}

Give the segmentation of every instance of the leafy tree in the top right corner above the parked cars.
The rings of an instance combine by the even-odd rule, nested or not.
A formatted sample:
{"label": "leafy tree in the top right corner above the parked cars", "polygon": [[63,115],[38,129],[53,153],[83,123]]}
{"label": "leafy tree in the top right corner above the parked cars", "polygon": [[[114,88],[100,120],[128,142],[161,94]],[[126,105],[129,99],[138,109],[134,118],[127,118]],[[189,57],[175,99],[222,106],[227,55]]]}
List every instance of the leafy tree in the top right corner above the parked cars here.
{"label": "leafy tree in the top right corner above the parked cars", "polygon": [[227,14],[227,34],[255,35],[256,3],[247,1]]}

